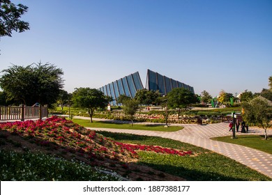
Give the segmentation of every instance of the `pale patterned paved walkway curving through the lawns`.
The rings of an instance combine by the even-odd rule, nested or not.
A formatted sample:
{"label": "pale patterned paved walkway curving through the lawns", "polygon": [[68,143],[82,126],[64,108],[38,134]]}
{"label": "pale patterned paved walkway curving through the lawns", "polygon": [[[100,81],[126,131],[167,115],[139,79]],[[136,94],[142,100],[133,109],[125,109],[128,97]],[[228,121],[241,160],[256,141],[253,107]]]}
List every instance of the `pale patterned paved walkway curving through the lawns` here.
{"label": "pale patterned paved walkway curving through the lawns", "polygon": [[[272,178],[272,155],[245,146],[211,140],[211,137],[223,137],[227,135],[229,135],[229,138],[232,137],[232,132],[229,132],[228,123],[217,123],[209,125],[182,124],[182,126],[184,129],[177,132],[154,132],[144,130],[120,130],[105,128],[90,129],[156,136],[191,143],[192,145],[206,148],[221,155],[232,158],[237,162],[245,164],[246,166],[249,166],[250,168],[255,169],[260,173],[263,173],[264,175]],[[272,135],[272,130],[267,130],[267,132],[269,135]],[[236,132],[236,135],[239,134],[242,133]],[[264,134],[264,130],[258,128],[251,129],[247,134]]]}

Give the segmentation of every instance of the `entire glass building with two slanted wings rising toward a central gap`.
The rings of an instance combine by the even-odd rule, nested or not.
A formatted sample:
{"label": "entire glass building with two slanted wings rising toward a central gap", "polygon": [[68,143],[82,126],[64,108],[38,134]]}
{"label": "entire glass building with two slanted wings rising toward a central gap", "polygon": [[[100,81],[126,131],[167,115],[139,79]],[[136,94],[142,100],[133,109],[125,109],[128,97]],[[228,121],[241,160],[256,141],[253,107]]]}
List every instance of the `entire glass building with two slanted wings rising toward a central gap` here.
{"label": "entire glass building with two slanted wings rising toward a central gap", "polygon": [[[112,105],[116,105],[116,99],[119,95],[126,95],[134,98],[138,90],[143,89],[139,72],[135,72],[131,75],[123,77],[119,80],[113,81],[110,84],[98,88],[105,95],[112,97]],[[187,84],[183,84],[180,81],[176,81],[169,77],[147,70],[146,75],[146,89],[151,91],[159,91],[162,95],[167,95],[173,88],[188,88],[192,93],[195,93],[194,88]]]}

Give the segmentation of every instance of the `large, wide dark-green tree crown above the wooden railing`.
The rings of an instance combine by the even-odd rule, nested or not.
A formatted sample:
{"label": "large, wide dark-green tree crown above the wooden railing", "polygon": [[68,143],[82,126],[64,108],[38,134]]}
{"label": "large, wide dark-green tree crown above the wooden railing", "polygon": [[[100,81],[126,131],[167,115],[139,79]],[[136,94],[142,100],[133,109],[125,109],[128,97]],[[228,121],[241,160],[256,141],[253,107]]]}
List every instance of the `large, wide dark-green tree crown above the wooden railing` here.
{"label": "large, wide dark-green tree crown above the wooden railing", "polygon": [[0,87],[7,100],[26,105],[38,102],[52,106],[63,88],[63,71],[50,63],[33,63],[27,67],[13,65],[1,72]]}

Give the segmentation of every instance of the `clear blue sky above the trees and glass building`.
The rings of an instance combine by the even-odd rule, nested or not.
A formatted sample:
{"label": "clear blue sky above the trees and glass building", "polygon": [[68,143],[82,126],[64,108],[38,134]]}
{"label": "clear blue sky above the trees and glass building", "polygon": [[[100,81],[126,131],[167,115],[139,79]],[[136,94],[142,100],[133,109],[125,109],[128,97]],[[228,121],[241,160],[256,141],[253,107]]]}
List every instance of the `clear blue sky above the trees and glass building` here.
{"label": "clear blue sky above the trees and glass building", "polygon": [[0,70],[50,62],[64,89],[147,69],[218,95],[269,88],[271,0],[22,0],[30,30],[0,42]]}

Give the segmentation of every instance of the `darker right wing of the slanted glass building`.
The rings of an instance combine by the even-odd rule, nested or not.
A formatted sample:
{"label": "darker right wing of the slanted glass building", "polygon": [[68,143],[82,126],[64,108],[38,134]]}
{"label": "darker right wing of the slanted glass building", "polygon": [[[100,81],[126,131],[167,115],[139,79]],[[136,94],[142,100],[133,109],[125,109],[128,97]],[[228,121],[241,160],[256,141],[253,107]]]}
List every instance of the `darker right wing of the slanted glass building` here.
{"label": "darker right wing of the slanted glass building", "polygon": [[192,93],[195,93],[194,88],[187,84],[183,84],[180,81],[170,79],[160,75],[158,72],[147,70],[146,75],[146,89],[153,91],[160,91],[161,94],[167,95],[173,88],[188,88]]}

